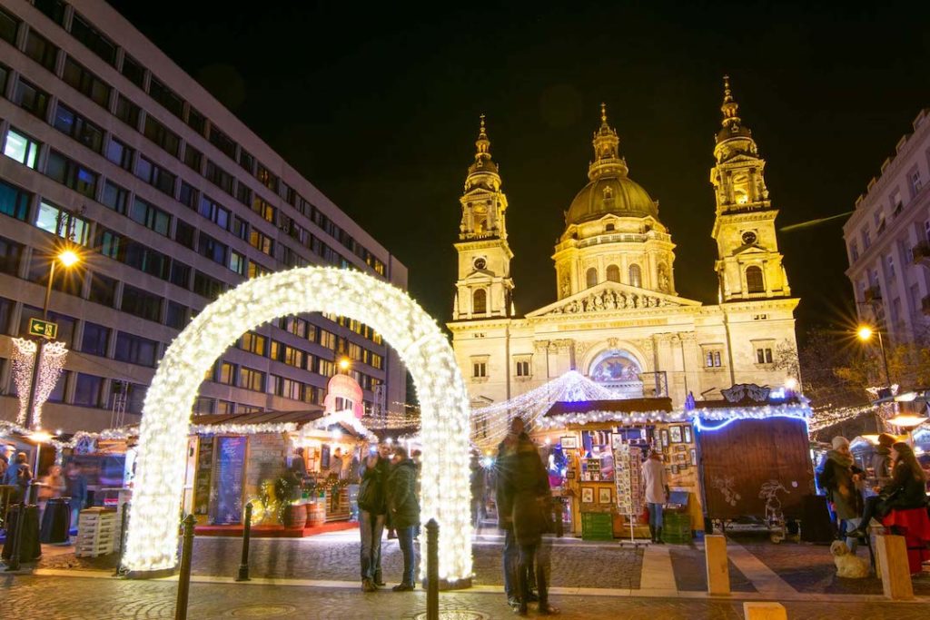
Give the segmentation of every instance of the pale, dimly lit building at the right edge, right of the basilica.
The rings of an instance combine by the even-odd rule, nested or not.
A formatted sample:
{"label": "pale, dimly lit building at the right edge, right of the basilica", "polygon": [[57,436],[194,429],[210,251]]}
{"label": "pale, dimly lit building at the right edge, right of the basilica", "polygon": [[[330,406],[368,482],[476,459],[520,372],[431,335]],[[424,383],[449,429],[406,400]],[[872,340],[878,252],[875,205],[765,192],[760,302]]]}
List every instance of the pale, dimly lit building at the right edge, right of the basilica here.
{"label": "pale, dimly lit building at the right edge, right of the basilica", "polygon": [[843,226],[859,319],[896,343],[930,327],[930,109],[897,141]]}

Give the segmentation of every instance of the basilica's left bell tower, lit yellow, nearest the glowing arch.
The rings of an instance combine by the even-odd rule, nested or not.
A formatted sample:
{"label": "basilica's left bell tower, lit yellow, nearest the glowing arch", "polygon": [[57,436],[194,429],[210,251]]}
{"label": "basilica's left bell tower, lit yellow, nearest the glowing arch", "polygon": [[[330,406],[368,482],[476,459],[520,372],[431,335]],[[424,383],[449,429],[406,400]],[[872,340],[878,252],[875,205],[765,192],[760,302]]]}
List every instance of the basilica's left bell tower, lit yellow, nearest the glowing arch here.
{"label": "basilica's left bell tower, lit yellow, nearest the glowing arch", "polygon": [[498,165],[491,159],[485,115],[475,140],[474,163],[459,198],[458,282],[453,321],[512,316],[511,259],[507,244],[507,196],[500,191]]}

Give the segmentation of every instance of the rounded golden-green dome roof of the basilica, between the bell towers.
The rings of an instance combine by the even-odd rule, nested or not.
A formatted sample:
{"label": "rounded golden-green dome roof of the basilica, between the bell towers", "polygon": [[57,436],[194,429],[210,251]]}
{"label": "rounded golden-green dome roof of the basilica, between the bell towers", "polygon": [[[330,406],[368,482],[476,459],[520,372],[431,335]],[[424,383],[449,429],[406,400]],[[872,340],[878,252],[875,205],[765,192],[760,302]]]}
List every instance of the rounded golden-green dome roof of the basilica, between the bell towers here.
{"label": "rounded golden-green dome roof of the basilica, between the bell towers", "polygon": [[591,180],[575,196],[565,224],[580,224],[613,214],[620,217],[658,218],[656,202],[636,181],[620,174],[604,174]]}

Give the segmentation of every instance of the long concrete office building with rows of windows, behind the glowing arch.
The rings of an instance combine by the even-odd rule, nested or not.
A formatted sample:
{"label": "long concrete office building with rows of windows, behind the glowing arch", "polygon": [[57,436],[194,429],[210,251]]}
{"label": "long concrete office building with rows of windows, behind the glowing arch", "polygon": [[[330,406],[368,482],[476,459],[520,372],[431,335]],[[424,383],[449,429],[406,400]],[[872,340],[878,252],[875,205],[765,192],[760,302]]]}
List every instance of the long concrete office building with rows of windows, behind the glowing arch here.
{"label": "long concrete office building with rows of windows, behind the glowing arch", "polygon": [[[166,346],[249,277],[302,265],[407,272],[112,7],[0,0],[0,418],[19,410],[11,338],[50,309],[70,353],[49,429],[139,419]],[[198,413],[307,409],[341,356],[368,407],[405,400],[405,371],[370,327],[286,317],[242,337],[205,377]]]}

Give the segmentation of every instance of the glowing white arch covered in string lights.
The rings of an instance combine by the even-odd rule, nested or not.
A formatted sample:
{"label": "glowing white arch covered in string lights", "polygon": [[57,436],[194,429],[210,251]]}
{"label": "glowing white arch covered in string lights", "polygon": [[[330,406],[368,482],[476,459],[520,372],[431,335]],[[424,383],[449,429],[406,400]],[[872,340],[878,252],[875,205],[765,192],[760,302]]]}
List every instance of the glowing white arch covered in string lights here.
{"label": "glowing white arch covered in string lights", "polygon": [[[191,410],[206,372],[239,336],[288,314],[328,312],[370,325],[414,378],[423,442],[421,520],[440,524],[439,576],[472,575],[469,397],[439,325],[404,291],[352,270],[305,267],[219,297],[171,343],[145,397],[123,567],[153,574],[177,563],[178,507]],[[426,562],[420,562],[421,573]]]}

